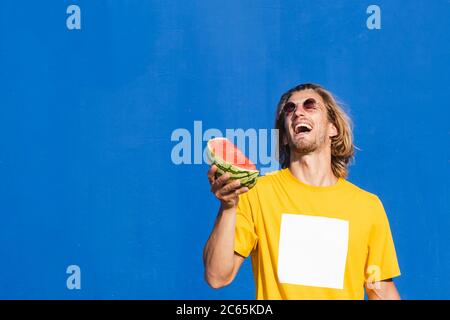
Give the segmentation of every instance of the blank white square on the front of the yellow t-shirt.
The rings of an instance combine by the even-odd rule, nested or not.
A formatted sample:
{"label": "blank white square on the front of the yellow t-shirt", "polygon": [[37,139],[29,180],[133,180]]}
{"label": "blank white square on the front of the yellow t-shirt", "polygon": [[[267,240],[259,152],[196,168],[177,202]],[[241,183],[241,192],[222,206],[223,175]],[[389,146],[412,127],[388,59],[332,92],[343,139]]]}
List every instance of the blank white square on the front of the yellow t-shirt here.
{"label": "blank white square on the front of the yellow t-shirt", "polygon": [[278,247],[280,283],[343,289],[346,220],[283,213]]}

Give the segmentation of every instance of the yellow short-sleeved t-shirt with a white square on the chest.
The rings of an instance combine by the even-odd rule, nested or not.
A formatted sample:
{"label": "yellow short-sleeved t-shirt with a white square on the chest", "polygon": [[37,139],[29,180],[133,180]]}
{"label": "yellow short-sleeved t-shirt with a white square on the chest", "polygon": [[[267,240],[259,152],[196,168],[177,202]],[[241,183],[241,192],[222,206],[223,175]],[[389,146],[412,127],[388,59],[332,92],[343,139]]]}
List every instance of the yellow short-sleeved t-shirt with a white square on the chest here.
{"label": "yellow short-sleeved t-shirt with a white square on the chest", "polygon": [[364,299],[400,275],[380,199],[345,179],[316,187],[289,169],[242,194],[235,251],[251,254],[257,299]]}

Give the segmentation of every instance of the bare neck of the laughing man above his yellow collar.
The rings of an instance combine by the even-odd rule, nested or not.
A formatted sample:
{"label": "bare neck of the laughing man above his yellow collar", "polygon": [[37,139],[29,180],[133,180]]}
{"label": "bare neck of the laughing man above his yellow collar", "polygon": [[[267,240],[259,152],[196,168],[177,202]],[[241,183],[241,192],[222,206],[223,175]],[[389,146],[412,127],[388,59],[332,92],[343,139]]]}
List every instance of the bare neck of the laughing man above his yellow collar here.
{"label": "bare neck of the laughing man above his yellow collar", "polygon": [[305,184],[329,187],[338,179],[331,170],[331,154],[327,150],[317,150],[307,155],[291,154],[289,170]]}

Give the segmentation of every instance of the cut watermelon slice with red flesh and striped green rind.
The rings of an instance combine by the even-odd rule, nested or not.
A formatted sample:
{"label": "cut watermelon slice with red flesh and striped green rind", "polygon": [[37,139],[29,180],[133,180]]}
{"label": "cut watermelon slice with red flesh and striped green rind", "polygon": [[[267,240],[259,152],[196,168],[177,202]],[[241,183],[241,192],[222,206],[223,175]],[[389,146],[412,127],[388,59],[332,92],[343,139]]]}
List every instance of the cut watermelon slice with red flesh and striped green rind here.
{"label": "cut watermelon slice with red flesh and striped green rind", "polygon": [[211,164],[217,166],[217,177],[228,172],[230,179],[240,180],[243,187],[250,189],[256,184],[259,176],[256,166],[228,139],[209,140],[207,150]]}

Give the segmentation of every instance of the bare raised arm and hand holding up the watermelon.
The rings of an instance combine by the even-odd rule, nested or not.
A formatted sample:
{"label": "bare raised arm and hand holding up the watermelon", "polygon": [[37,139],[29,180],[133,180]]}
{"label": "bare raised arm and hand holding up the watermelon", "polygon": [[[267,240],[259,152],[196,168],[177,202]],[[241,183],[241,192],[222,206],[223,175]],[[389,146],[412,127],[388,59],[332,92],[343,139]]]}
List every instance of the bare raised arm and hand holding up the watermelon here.
{"label": "bare raised arm and hand holding up the watermelon", "polygon": [[228,181],[227,173],[215,179],[216,171],[217,167],[212,166],[208,179],[211,192],[220,200],[221,206],[203,251],[205,280],[215,289],[230,284],[244,262],[245,258],[234,252],[234,237],[239,194],[248,191],[246,187],[240,187],[238,180]]}

